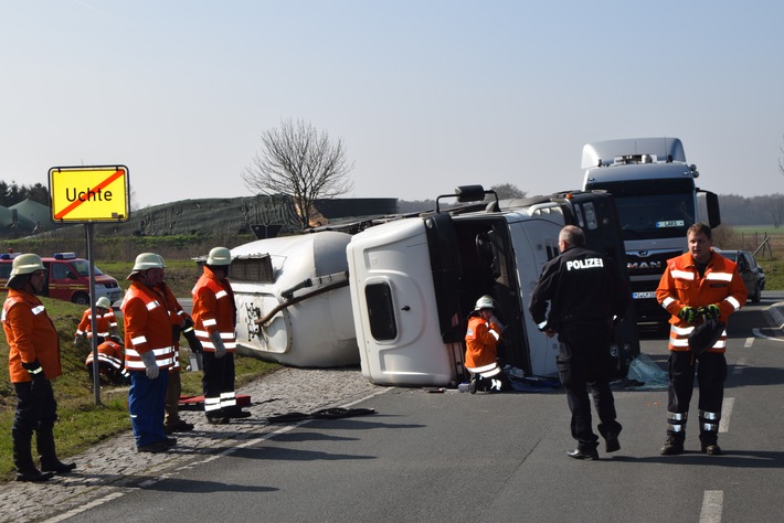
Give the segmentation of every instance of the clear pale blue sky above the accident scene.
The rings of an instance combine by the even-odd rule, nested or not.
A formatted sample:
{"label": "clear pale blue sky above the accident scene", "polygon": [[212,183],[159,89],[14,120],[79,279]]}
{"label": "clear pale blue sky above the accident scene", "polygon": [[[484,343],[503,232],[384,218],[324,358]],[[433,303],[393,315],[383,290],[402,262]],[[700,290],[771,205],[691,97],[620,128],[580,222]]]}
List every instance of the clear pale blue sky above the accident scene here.
{"label": "clear pale blue sky above the accident scene", "polygon": [[0,179],[123,163],[142,206],[243,196],[261,134],[342,139],[347,196],[578,189],[585,142],[678,137],[784,192],[784,2],[0,0]]}

